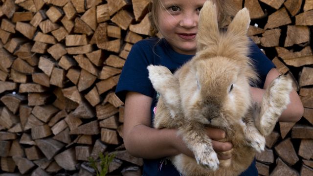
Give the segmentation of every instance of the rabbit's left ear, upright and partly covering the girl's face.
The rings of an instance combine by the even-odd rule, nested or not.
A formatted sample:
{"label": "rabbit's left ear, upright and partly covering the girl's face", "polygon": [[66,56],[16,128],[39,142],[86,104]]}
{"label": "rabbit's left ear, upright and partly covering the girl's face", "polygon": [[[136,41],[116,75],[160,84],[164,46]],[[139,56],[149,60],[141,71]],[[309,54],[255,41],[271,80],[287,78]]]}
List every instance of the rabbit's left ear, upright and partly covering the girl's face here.
{"label": "rabbit's left ear, upright and partly covering the girl's face", "polygon": [[220,37],[216,5],[207,0],[200,11],[199,25],[198,25],[198,51],[203,50],[205,47],[217,45]]}

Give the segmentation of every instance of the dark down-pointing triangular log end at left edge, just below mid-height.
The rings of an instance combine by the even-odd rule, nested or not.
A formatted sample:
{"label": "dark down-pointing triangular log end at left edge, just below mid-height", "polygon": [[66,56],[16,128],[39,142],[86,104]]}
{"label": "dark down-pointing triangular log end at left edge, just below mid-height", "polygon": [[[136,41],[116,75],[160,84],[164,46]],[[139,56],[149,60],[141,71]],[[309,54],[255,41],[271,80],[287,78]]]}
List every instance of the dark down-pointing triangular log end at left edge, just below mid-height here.
{"label": "dark down-pointing triangular log end at left edge, just below mid-height", "polygon": [[26,100],[26,97],[23,95],[10,93],[2,96],[0,100],[9,110],[11,110],[11,112],[16,114],[21,103]]}

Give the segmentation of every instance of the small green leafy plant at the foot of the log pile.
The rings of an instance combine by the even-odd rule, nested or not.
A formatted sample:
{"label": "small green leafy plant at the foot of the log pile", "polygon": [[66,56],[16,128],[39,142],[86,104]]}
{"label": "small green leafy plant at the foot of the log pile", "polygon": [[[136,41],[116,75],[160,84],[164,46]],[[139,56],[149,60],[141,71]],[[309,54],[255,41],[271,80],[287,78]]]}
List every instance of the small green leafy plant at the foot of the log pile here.
{"label": "small green leafy plant at the foot of the log pile", "polygon": [[93,157],[89,157],[90,166],[95,170],[96,176],[106,176],[109,171],[110,163],[113,161],[115,154],[107,154],[104,156],[101,152],[99,153],[100,157],[100,168],[101,171],[98,171],[97,160],[94,160]]}

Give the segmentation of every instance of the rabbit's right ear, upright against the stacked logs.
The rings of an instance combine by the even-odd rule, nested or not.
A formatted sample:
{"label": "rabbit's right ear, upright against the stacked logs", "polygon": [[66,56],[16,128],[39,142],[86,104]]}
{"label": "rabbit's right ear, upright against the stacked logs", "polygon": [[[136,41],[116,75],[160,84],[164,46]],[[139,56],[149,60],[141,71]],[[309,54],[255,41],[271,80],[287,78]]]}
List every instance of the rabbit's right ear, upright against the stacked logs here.
{"label": "rabbit's right ear, upright against the stacked logs", "polygon": [[241,9],[236,16],[234,17],[233,21],[229,24],[227,29],[227,36],[232,36],[236,40],[247,40],[246,33],[250,24],[250,16],[249,11],[245,7]]}

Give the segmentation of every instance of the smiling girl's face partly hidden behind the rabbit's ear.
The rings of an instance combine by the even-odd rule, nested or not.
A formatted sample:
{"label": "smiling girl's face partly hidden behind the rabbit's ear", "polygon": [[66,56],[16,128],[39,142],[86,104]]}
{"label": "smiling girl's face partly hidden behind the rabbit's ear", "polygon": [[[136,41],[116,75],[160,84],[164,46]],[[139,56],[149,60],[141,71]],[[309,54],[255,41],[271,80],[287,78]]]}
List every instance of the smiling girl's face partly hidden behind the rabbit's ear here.
{"label": "smiling girl's face partly hidden behind the rabbit's ear", "polygon": [[158,27],[175,51],[195,54],[198,18],[206,0],[160,0]]}

